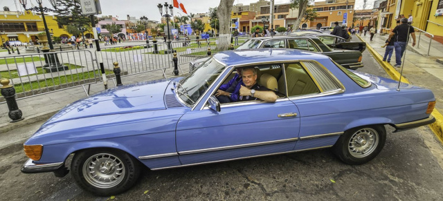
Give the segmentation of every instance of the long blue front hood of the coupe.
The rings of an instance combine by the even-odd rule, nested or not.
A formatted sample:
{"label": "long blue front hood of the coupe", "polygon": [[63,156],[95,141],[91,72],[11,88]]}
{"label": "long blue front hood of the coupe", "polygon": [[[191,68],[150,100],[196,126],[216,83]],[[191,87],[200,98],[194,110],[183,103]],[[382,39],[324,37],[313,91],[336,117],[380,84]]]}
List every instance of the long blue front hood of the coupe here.
{"label": "long blue front hood of the coupe", "polygon": [[46,124],[118,113],[164,110],[165,88],[171,79],[119,86],[67,105]]}

